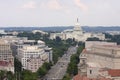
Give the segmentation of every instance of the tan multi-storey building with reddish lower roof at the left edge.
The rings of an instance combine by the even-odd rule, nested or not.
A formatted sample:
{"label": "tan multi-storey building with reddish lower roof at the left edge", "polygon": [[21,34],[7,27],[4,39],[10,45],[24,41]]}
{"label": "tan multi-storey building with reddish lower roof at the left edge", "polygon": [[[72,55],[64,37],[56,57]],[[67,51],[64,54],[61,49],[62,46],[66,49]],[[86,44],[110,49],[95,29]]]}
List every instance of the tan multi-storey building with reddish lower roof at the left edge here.
{"label": "tan multi-storey building with reddish lower roof at the left edge", "polygon": [[14,57],[10,44],[0,39],[0,70],[11,71],[14,73]]}

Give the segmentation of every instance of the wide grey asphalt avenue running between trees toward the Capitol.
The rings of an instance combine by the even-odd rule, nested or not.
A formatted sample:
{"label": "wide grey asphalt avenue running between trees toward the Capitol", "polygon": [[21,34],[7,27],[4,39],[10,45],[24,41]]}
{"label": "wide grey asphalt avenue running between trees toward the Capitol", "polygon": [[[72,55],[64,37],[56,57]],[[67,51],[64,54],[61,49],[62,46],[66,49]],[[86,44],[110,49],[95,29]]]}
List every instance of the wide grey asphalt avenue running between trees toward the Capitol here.
{"label": "wide grey asphalt avenue running between trees toward the Capitol", "polygon": [[77,47],[70,47],[68,51],[58,60],[58,62],[52,66],[48,73],[42,80],[61,80],[67,70],[68,63],[72,54],[77,52]]}

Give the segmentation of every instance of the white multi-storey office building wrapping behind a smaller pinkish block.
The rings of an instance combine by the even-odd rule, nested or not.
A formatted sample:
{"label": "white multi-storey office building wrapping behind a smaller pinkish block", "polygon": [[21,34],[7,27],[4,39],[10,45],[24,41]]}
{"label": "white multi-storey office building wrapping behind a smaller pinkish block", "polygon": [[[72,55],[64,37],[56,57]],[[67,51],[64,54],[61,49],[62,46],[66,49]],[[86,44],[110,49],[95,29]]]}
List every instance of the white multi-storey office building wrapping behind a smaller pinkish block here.
{"label": "white multi-storey office building wrapping behind a smaller pinkish block", "polygon": [[45,53],[44,48],[39,48],[38,46],[23,46],[23,48],[18,51],[18,59],[21,61],[24,69],[27,69],[27,60],[31,58],[40,58],[42,60],[47,60],[48,55]]}

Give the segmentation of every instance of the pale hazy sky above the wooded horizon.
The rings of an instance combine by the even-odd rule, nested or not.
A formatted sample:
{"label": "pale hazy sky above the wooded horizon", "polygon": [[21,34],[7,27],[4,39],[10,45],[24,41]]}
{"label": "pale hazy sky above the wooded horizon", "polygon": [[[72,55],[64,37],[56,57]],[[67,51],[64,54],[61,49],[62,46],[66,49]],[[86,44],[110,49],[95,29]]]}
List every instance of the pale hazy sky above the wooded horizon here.
{"label": "pale hazy sky above the wooded horizon", "polygon": [[120,26],[120,0],[0,0],[0,27]]}

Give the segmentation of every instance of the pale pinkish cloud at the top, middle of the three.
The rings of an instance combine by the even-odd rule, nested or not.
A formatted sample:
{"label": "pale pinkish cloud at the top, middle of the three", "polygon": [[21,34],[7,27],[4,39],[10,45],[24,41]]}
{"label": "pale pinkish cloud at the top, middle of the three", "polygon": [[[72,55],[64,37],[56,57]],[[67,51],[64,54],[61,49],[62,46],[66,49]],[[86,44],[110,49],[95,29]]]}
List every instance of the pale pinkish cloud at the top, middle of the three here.
{"label": "pale pinkish cloud at the top, middle of the three", "polygon": [[41,6],[51,10],[61,10],[63,8],[57,0],[49,0],[47,3],[42,3]]}

